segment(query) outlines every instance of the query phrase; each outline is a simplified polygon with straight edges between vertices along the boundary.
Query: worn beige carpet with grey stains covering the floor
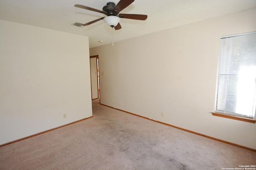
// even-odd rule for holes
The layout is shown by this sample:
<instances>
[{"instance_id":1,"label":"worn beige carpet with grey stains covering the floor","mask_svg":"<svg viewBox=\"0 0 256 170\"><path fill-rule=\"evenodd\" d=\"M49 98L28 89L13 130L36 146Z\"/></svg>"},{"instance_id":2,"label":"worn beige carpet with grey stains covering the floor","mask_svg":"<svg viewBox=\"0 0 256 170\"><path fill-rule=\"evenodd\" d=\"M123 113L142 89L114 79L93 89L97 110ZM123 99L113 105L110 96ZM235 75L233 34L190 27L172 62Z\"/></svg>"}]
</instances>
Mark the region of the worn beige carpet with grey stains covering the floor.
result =
<instances>
[{"instance_id":1,"label":"worn beige carpet with grey stains covering the floor","mask_svg":"<svg viewBox=\"0 0 256 170\"><path fill-rule=\"evenodd\" d=\"M256 164L234 147L93 101L93 117L0 148L1 170L221 170Z\"/></svg>"}]
</instances>

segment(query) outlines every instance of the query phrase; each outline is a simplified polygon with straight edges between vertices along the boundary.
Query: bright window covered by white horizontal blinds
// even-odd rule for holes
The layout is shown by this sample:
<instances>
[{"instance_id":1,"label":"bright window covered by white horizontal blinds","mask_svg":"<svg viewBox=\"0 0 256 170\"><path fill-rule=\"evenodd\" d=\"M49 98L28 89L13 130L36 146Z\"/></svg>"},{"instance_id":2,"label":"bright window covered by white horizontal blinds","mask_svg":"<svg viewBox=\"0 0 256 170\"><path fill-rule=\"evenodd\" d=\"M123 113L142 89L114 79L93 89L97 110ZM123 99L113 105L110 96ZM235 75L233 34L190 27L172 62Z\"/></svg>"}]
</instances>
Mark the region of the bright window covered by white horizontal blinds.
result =
<instances>
[{"instance_id":1,"label":"bright window covered by white horizontal blinds","mask_svg":"<svg viewBox=\"0 0 256 170\"><path fill-rule=\"evenodd\" d=\"M254 118L256 32L220 37L215 111Z\"/></svg>"}]
</instances>

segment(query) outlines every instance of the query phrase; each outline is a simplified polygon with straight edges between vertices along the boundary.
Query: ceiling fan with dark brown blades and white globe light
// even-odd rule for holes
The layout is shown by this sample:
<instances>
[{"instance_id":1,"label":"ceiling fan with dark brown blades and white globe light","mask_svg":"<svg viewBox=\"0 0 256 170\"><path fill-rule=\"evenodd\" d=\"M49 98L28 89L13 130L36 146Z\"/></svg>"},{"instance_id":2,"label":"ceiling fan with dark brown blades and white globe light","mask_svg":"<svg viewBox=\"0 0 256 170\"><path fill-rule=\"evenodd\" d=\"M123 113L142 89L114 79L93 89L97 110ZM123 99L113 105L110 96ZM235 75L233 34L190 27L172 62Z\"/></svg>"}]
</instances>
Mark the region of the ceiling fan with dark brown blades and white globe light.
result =
<instances>
[{"instance_id":1,"label":"ceiling fan with dark brown blades and white globe light","mask_svg":"<svg viewBox=\"0 0 256 170\"><path fill-rule=\"evenodd\" d=\"M147 15L140 14L119 14L119 12L132 4L132 2L134 2L134 0L120 0L118 4L115 4L114 2L108 2L107 5L102 8L102 11L79 4L76 4L75 7L91 10L94 12L100 12L106 15L106 17L98 18L97 20L90 21L83 25L90 25L94 22L104 20L110 27L114 27L116 30L118 30L122 28L119 23L120 18L127 18L132 20L146 20L148 18Z\"/></svg>"}]
</instances>

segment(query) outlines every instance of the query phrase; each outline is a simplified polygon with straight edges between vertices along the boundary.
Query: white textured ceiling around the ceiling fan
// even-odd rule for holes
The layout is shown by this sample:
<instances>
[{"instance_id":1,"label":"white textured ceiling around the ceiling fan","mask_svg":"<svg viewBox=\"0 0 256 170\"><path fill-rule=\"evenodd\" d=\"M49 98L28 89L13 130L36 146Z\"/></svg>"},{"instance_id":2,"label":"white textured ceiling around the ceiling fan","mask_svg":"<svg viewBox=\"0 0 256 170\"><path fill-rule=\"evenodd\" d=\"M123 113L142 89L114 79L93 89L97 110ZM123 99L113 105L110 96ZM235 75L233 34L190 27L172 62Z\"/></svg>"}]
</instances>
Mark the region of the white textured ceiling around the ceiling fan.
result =
<instances>
[{"instance_id":1,"label":"white textured ceiling around the ceiling fan","mask_svg":"<svg viewBox=\"0 0 256 170\"><path fill-rule=\"evenodd\" d=\"M104 14L74 7L81 4L102 10L107 2L119 0L0 0L0 20L24 23L89 37L90 48L148 33L256 8L256 0L135 0L123 14L145 14L145 21L121 18L115 30L103 20L87 23ZM100 43L99 41L103 41Z\"/></svg>"}]
</instances>

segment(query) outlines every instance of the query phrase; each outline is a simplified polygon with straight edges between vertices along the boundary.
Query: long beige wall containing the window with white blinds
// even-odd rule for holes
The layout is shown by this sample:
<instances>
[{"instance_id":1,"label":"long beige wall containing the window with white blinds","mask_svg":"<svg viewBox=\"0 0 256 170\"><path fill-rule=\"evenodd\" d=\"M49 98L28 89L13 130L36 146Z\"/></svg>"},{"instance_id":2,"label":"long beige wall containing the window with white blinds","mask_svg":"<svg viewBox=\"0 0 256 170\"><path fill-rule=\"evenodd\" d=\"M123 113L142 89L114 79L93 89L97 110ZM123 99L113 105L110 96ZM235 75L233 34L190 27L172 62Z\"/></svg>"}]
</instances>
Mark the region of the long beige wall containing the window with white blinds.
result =
<instances>
[{"instance_id":1,"label":"long beige wall containing the window with white blinds","mask_svg":"<svg viewBox=\"0 0 256 170\"><path fill-rule=\"evenodd\" d=\"M90 49L99 55L101 103L256 149L256 124L211 114L220 36L256 31L255 16L252 9Z\"/></svg>"}]
</instances>

